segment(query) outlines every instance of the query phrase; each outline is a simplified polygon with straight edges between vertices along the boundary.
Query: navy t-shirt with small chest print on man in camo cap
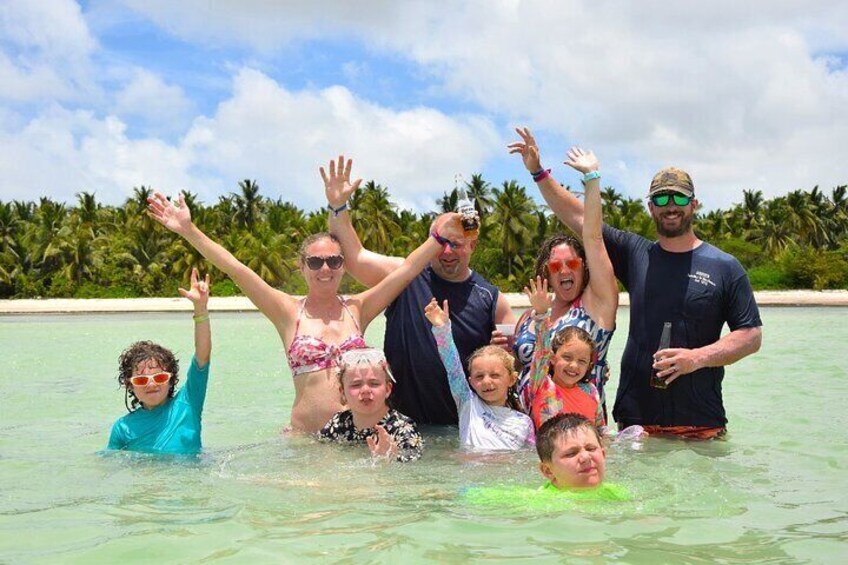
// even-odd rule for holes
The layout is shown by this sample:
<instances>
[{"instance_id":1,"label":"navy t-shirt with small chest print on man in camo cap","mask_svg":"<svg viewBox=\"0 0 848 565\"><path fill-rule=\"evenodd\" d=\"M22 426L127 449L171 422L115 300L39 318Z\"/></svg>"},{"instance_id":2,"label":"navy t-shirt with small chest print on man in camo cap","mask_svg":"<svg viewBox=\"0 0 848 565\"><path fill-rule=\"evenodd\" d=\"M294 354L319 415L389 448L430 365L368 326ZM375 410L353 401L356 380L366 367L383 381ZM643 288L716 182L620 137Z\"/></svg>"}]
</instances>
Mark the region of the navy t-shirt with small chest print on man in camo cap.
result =
<instances>
[{"instance_id":1,"label":"navy t-shirt with small chest print on man in camo cap","mask_svg":"<svg viewBox=\"0 0 848 565\"><path fill-rule=\"evenodd\" d=\"M624 426L725 426L723 367L683 375L667 389L651 387L649 379L664 322L672 323L671 347L685 348L715 343L725 322L731 331L762 325L745 269L706 242L672 253L605 225L604 243L616 277L630 293L630 329L613 418Z\"/></svg>"}]
</instances>

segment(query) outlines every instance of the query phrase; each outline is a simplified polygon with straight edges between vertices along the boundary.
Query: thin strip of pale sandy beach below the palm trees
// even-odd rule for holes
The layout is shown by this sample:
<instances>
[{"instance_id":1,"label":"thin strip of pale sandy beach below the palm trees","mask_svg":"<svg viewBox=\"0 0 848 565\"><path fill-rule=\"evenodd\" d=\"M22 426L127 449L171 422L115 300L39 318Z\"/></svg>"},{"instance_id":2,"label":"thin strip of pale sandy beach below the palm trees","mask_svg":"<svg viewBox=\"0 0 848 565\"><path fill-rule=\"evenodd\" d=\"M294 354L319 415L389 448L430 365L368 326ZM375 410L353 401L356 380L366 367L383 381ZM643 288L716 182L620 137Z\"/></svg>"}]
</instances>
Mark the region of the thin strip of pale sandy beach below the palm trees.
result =
<instances>
[{"instance_id":1,"label":"thin strip of pale sandy beach below the palm trees","mask_svg":"<svg viewBox=\"0 0 848 565\"><path fill-rule=\"evenodd\" d=\"M848 290L764 290L754 293L760 306L848 306ZM506 293L513 308L527 308L527 298L520 293ZM619 297L628 306L627 293ZM181 297L173 298L48 298L0 300L0 315L12 314L76 314L99 312L182 312L191 304ZM209 299L213 312L250 312L256 307L243 296Z\"/></svg>"}]
</instances>

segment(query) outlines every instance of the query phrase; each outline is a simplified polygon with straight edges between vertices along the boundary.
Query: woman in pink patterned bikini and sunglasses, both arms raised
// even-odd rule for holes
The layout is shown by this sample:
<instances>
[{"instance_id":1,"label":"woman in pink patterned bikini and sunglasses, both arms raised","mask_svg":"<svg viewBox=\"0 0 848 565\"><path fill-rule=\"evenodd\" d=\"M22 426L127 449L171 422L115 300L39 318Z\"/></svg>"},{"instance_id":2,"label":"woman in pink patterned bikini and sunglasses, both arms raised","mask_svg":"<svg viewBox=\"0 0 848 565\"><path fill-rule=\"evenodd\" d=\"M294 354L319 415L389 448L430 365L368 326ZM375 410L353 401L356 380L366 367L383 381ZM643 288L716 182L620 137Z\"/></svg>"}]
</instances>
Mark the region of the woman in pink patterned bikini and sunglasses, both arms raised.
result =
<instances>
[{"instance_id":1,"label":"woman in pink patterned bikini and sunglasses, both arms raised","mask_svg":"<svg viewBox=\"0 0 848 565\"><path fill-rule=\"evenodd\" d=\"M342 175L349 183L349 163L344 171L339 167ZM229 275L277 328L294 379L292 430L304 433L318 432L343 410L336 370L341 353L365 347L363 335L371 320L441 252L443 245L463 240L459 214L443 214L433 223L432 237L410 253L397 270L380 284L345 298L338 294L345 272L341 246L330 234L312 235L300 249L300 269L308 291L305 298L296 298L271 287L200 231L191 221L182 193L179 204L174 205L157 192L148 199L148 210Z\"/></svg>"}]
</instances>

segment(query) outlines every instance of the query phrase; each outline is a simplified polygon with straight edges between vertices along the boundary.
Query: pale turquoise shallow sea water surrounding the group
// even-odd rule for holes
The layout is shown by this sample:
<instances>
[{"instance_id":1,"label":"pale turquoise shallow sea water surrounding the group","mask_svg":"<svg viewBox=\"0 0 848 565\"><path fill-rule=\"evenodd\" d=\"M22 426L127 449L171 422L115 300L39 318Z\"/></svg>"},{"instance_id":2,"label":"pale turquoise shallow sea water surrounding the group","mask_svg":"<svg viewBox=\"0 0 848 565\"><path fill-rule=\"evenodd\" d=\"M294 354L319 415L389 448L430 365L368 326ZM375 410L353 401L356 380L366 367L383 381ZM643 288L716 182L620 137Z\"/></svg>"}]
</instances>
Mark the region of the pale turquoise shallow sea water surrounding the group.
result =
<instances>
[{"instance_id":1,"label":"pale turquoise shallow sea water surrounding the group","mask_svg":"<svg viewBox=\"0 0 848 565\"><path fill-rule=\"evenodd\" d=\"M409 465L281 437L291 379L256 314L214 315L203 457L99 456L125 412L119 353L154 339L186 367L190 316L0 317L0 562L841 563L846 314L765 308L763 349L725 378L727 441L613 445L608 476L633 500L542 510L466 500L542 479L530 452L459 453L455 429L425 429Z\"/></svg>"}]
</instances>

